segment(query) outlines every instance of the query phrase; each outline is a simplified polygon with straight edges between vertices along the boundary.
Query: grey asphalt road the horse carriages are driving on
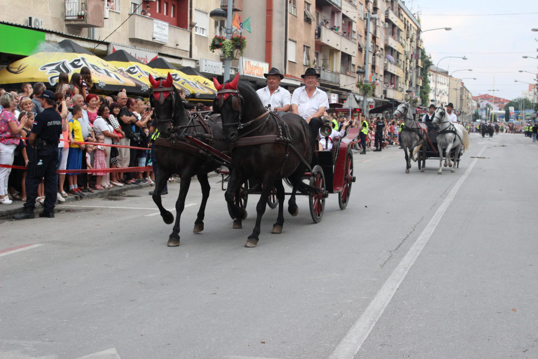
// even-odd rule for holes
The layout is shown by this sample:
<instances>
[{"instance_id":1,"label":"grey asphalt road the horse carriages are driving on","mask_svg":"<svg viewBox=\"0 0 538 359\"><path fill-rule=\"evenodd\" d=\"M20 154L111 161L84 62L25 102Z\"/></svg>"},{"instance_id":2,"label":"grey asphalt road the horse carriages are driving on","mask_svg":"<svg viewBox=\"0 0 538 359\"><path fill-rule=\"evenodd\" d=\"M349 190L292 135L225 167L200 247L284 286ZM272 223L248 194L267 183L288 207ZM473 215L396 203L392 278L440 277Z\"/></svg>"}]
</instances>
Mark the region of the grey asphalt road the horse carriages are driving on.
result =
<instances>
[{"instance_id":1,"label":"grey asphalt road the horse carriages are driving on","mask_svg":"<svg viewBox=\"0 0 538 359\"><path fill-rule=\"evenodd\" d=\"M355 154L347 209L330 195L314 224L301 197L281 235L267 209L251 249L258 196L234 230L218 178L200 234L193 181L177 248L147 188L4 217L0 357L536 358L537 151L471 134L442 175L405 174L395 147Z\"/></svg>"}]
</instances>

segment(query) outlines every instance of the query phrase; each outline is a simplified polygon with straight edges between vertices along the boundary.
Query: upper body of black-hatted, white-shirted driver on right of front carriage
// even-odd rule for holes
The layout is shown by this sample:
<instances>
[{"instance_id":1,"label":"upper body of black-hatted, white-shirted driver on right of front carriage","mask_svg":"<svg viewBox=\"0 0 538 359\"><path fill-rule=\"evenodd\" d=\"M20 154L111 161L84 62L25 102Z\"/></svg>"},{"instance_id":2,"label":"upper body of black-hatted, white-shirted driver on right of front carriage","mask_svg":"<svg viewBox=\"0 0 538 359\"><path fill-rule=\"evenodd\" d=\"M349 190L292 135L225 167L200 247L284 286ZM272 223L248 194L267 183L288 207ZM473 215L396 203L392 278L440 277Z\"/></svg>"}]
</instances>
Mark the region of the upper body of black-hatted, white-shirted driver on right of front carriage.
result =
<instances>
[{"instance_id":1,"label":"upper body of black-hatted, white-shirted driver on right of front carriage","mask_svg":"<svg viewBox=\"0 0 538 359\"><path fill-rule=\"evenodd\" d=\"M292 112L310 123L310 119L321 117L325 109L329 108L329 98L326 93L316 87L320 74L316 73L315 69L307 68L301 78L303 78L305 86L293 91Z\"/></svg>"}]
</instances>

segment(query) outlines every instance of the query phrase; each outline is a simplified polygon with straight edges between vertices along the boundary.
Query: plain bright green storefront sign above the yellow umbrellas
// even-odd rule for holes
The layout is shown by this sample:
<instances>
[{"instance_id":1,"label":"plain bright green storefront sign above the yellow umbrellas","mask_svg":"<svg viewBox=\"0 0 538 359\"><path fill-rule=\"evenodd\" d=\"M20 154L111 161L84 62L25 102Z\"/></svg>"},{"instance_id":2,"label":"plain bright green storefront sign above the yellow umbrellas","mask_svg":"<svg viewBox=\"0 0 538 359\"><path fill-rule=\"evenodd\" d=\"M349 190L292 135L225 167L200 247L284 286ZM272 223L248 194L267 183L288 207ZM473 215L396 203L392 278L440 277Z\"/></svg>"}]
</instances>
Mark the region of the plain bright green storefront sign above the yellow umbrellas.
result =
<instances>
[{"instance_id":1,"label":"plain bright green storefront sign above the yellow umbrellas","mask_svg":"<svg viewBox=\"0 0 538 359\"><path fill-rule=\"evenodd\" d=\"M0 52L28 56L45 42L45 33L24 27L0 24Z\"/></svg>"}]
</instances>

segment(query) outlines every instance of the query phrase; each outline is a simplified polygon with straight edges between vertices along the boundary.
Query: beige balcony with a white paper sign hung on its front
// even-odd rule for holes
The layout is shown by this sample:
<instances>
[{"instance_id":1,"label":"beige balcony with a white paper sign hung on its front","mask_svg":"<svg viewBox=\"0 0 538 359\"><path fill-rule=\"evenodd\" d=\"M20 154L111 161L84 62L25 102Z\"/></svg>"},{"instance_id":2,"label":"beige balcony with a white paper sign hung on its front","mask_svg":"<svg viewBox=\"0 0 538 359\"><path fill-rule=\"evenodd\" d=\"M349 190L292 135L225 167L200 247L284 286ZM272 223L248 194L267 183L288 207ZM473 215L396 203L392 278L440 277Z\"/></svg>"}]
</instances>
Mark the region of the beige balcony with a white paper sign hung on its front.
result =
<instances>
[{"instance_id":1,"label":"beige balcony with a white paper sign hung on its front","mask_svg":"<svg viewBox=\"0 0 538 359\"><path fill-rule=\"evenodd\" d=\"M160 41L155 42L153 39L153 19L147 16L137 14L131 16L129 19L129 38L189 51L190 32L188 30L168 25L168 43L162 44Z\"/></svg>"}]
</instances>

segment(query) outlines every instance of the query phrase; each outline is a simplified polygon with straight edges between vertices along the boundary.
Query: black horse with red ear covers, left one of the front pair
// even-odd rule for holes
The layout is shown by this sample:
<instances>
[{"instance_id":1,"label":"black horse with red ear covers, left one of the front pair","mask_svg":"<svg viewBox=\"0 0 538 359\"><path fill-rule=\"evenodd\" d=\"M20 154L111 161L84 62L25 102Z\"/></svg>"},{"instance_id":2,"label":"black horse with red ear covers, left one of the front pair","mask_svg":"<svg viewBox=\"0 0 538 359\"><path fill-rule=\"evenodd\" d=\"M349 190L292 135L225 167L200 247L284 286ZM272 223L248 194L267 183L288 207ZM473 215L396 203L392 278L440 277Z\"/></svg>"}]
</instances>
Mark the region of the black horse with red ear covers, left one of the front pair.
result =
<instances>
[{"instance_id":1,"label":"black horse with red ear covers, left one of the front pair","mask_svg":"<svg viewBox=\"0 0 538 359\"><path fill-rule=\"evenodd\" d=\"M153 79L151 75L149 79L152 86L150 103L154 108L159 130L159 138L155 140L155 158L159 170L155 179L153 202L159 207L162 220L166 224L174 221L174 215L162 207L161 191L172 174L178 174L181 179L179 196L175 203L178 214L172 234L168 238L168 247L176 247L180 242L179 222L185 208L190 179L196 175L202 187L202 202L193 229L194 233L199 233L203 230L203 219L210 190L207 174L221 165L211 157L210 153L201 150L185 136L199 137L203 142L221 152L228 150L230 144L223 140L221 123L210 119L206 121L199 114L194 116L188 114L183 107L178 90L173 86L170 74L166 80Z\"/></svg>"}]
</instances>

